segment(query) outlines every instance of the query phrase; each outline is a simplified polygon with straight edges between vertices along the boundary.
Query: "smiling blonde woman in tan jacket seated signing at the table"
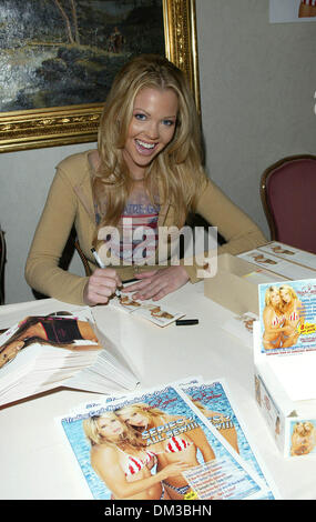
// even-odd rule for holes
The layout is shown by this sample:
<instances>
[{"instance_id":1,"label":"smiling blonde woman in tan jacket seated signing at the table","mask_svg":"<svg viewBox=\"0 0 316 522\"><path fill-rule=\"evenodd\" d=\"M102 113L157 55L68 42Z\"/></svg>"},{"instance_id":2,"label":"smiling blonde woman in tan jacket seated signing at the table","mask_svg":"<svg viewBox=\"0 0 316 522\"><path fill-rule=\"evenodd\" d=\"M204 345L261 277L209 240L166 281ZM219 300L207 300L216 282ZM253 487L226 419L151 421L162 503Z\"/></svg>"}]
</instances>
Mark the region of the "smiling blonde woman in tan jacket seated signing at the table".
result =
<instances>
[{"instance_id":1,"label":"smiling blonde woman in tan jacket seated signing at the table","mask_svg":"<svg viewBox=\"0 0 316 522\"><path fill-rule=\"evenodd\" d=\"M236 254L266 242L203 170L200 118L185 74L163 57L139 56L113 82L98 150L58 165L27 260L27 281L45 295L94 305L136 278L129 288L134 298L159 300L197 280L194 262L156 263L162 231L181 229L188 212L218 228L226 241L221 251ZM73 225L90 277L59 267ZM140 229L147 233L137 234ZM108 268L95 265L94 247Z\"/></svg>"}]
</instances>

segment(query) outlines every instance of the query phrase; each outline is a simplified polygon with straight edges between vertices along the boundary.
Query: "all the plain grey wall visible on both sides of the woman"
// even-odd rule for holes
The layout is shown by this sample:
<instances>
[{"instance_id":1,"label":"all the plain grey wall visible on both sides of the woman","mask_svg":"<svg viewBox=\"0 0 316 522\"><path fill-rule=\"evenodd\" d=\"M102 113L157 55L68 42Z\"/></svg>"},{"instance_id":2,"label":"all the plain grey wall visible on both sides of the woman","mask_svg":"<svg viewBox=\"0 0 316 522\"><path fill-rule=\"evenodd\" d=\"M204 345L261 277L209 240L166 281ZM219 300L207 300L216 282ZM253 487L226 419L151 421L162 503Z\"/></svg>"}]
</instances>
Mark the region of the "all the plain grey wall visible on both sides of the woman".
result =
<instances>
[{"instance_id":1,"label":"all the plain grey wall visible on both sides of the woman","mask_svg":"<svg viewBox=\"0 0 316 522\"><path fill-rule=\"evenodd\" d=\"M316 153L316 23L268 22L268 0L196 0L206 165L212 179L267 234L263 170ZM79 144L0 154L0 225L6 231L6 302L33 299L24 262L55 164ZM74 257L71 269L83 273Z\"/></svg>"}]
</instances>

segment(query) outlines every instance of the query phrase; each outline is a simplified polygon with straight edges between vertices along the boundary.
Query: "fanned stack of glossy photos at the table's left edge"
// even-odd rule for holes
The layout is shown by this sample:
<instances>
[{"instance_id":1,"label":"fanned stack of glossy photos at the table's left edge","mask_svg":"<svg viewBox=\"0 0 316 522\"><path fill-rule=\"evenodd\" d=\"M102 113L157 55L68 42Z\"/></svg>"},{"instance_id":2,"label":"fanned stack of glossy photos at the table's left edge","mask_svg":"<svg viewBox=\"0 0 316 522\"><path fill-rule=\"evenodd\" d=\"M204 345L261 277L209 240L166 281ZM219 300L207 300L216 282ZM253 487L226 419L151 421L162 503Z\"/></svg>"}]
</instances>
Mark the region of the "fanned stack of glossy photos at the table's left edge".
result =
<instances>
[{"instance_id":1,"label":"fanned stack of glossy photos at the table's left edge","mask_svg":"<svg viewBox=\"0 0 316 522\"><path fill-rule=\"evenodd\" d=\"M59 387L134 390L139 380L96 332L89 308L28 317L7 330L0 337L0 405Z\"/></svg>"}]
</instances>

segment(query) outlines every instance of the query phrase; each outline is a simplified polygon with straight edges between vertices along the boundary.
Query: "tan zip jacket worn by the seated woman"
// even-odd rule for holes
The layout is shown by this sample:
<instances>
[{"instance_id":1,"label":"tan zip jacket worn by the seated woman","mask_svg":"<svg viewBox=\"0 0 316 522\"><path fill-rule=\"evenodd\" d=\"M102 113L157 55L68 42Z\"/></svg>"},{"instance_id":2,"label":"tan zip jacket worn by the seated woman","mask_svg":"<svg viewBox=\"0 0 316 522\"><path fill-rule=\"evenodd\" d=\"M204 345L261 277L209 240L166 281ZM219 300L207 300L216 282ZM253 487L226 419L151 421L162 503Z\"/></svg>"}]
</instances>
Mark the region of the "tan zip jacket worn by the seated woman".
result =
<instances>
[{"instance_id":1,"label":"tan zip jacket worn by the seated woman","mask_svg":"<svg viewBox=\"0 0 316 522\"><path fill-rule=\"evenodd\" d=\"M80 247L92 270L95 261L91 253L95 235L95 213L91 190L89 152L73 154L61 161L50 188L26 265L26 279L34 290L74 304L83 303L86 277L75 275L59 268L60 257L74 224ZM266 242L259 229L223 192L207 181L200 191L196 212L227 241L218 253L233 254L253 249ZM163 204L159 227L174 225L172 205ZM122 281L152 267L118 267ZM196 267L185 267L192 282L197 280Z\"/></svg>"}]
</instances>

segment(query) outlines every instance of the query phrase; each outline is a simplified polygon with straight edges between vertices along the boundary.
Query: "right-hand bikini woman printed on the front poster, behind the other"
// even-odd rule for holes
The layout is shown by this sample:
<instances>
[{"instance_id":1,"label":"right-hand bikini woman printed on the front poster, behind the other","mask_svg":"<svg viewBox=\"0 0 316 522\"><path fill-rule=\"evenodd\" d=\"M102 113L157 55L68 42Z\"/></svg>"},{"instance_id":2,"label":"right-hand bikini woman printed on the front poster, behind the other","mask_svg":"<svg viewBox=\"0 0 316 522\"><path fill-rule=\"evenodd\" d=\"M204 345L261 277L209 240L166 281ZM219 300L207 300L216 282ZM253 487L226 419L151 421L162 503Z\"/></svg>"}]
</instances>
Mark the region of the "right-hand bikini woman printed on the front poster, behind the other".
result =
<instances>
[{"instance_id":1,"label":"right-hand bikini woman printed on the front poster, behind the other","mask_svg":"<svg viewBox=\"0 0 316 522\"><path fill-rule=\"evenodd\" d=\"M200 465L197 450L200 450L203 461L208 462L215 459L214 451L201 428L175 431L179 434L172 435L172 430L181 425L188 425L190 420L180 415L170 415L157 408L150 408L144 403L130 404L116 411L116 414L131 426L135 433L142 434L144 440L152 436L152 441L157 436L159 442L152 445L157 458L157 471L169 469L171 464L184 464L187 468ZM157 429L157 430L155 430ZM191 488L183 474L166 474L163 484L171 499L183 500Z\"/></svg>"}]
</instances>

